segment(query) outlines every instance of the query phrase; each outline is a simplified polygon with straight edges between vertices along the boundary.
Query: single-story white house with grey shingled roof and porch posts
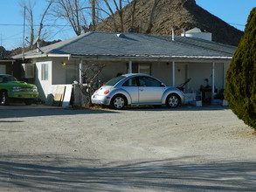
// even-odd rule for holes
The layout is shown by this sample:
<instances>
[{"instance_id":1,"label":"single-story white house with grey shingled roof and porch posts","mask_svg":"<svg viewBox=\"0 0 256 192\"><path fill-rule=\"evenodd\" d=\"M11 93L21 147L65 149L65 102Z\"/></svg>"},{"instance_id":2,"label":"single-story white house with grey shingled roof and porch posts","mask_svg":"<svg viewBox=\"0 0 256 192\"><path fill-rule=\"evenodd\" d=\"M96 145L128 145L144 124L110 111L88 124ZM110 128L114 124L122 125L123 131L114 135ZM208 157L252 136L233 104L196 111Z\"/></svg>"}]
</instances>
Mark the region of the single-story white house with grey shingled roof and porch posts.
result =
<instances>
[{"instance_id":1,"label":"single-story white house with grey shingled roof and porch posts","mask_svg":"<svg viewBox=\"0 0 256 192\"><path fill-rule=\"evenodd\" d=\"M78 37L25 52L27 68L34 68L34 83L45 100L52 85L82 83L88 63L104 64L98 79L106 82L118 73L148 73L168 86L187 79L184 93L204 92L204 99L225 87L225 72L236 47L203 38L138 33L86 32ZM26 68L26 67L25 67Z\"/></svg>"}]
</instances>

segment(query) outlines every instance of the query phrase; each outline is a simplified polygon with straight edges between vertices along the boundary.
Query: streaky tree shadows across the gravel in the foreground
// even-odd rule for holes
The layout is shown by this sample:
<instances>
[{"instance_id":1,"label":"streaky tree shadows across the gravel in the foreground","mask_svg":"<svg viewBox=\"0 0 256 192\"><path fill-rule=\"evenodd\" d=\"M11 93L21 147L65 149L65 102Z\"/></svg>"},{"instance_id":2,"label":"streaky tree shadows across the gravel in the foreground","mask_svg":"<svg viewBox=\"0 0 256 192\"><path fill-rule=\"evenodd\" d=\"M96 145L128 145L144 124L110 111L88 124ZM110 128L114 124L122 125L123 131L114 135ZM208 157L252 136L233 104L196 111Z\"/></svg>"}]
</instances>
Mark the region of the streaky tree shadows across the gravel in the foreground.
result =
<instances>
[{"instance_id":1,"label":"streaky tree shadows across the gravel in the foreground","mask_svg":"<svg viewBox=\"0 0 256 192\"><path fill-rule=\"evenodd\" d=\"M0 190L255 191L256 162L111 162L55 154L1 155Z\"/></svg>"}]
</instances>

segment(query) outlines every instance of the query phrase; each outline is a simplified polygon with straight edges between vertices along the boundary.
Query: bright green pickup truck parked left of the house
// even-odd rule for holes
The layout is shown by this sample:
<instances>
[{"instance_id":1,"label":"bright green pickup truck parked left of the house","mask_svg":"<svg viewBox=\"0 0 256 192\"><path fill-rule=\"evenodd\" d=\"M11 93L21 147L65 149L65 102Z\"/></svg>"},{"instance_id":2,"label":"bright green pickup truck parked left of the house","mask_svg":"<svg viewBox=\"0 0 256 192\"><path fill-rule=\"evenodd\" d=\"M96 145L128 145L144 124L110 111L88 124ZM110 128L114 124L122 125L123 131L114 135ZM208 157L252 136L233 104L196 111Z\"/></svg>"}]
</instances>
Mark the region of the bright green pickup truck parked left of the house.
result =
<instances>
[{"instance_id":1,"label":"bright green pickup truck parked left of the house","mask_svg":"<svg viewBox=\"0 0 256 192\"><path fill-rule=\"evenodd\" d=\"M0 105L9 105L10 99L19 99L31 105L35 98L38 98L37 86L17 81L11 75L0 74Z\"/></svg>"}]
</instances>

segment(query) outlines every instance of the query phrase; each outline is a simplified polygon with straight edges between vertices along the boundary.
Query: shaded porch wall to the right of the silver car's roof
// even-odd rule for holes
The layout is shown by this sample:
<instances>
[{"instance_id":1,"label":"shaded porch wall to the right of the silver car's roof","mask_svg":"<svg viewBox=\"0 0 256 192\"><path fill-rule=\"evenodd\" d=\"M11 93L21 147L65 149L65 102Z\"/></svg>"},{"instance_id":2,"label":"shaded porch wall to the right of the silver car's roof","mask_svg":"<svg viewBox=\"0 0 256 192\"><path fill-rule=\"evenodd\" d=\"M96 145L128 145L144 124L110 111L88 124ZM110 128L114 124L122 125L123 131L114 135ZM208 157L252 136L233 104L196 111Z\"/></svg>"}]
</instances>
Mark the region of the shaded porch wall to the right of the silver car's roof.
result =
<instances>
[{"instance_id":1,"label":"shaded porch wall to the right of the silver car's roof","mask_svg":"<svg viewBox=\"0 0 256 192\"><path fill-rule=\"evenodd\" d=\"M215 64L215 87L220 91L225 88L225 73L228 68L228 63ZM179 86L190 78L190 82L185 86L185 92L196 93L200 86L206 86L204 79L208 79L209 86L211 82L211 66L212 63L175 63L175 86ZM172 64L168 63L153 63L152 75L161 79L166 85L172 86Z\"/></svg>"}]
</instances>

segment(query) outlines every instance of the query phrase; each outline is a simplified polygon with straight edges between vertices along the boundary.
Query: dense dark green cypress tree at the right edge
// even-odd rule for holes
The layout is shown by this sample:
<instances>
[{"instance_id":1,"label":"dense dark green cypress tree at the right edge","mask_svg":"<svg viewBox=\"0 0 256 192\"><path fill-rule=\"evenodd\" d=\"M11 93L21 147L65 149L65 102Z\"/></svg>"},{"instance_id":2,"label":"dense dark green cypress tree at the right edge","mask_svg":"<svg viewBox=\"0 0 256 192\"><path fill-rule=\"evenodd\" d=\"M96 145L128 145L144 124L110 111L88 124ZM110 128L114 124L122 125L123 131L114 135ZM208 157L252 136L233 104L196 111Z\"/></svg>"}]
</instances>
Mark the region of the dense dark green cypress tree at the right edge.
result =
<instances>
[{"instance_id":1,"label":"dense dark green cypress tree at the right edge","mask_svg":"<svg viewBox=\"0 0 256 192\"><path fill-rule=\"evenodd\" d=\"M226 74L225 99L232 112L256 131L256 8L251 11Z\"/></svg>"}]
</instances>

